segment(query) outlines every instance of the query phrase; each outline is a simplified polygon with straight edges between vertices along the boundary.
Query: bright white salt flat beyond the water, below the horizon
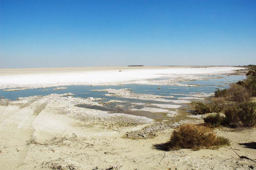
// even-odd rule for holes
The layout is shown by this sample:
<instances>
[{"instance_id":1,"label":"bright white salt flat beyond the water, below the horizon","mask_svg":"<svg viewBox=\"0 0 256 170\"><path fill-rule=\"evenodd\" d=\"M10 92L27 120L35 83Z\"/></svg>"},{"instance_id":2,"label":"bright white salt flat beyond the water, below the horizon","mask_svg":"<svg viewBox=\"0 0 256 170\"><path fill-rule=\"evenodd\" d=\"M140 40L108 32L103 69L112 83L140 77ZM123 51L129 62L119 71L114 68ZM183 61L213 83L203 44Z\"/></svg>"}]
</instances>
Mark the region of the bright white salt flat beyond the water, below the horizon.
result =
<instances>
[{"instance_id":1,"label":"bright white salt flat beyond the water, below the horizon","mask_svg":"<svg viewBox=\"0 0 256 170\"><path fill-rule=\"evenodd\" d=\"M0 69L0 89L64 85L118 85L127 83L180 85L178 81L204 79L199 74L233 73L240 67L74 67ZM122 72L119 72L122 70ZM168 80L149 79L168 77ZM191 85L190 85L191 86Z\"/></svg>"}]
</instances>

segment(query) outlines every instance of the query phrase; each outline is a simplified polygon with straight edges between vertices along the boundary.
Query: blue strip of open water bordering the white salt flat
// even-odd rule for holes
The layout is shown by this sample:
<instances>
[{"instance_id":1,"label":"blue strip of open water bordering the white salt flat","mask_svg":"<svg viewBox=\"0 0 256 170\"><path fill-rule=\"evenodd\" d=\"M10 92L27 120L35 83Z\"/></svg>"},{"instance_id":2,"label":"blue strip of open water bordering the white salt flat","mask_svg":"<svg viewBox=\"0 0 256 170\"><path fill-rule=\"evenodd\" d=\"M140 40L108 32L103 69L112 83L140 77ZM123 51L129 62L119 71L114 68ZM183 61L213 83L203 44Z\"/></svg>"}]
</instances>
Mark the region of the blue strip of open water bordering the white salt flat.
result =
<instances>
[{"instance_id":1,"label":"blue strip of open water bordering the white salt flat","mask_svg":"<svg viewBox=\"0 0 256 170\"><path fill-rule=\"evenodd\" d=\"M10 100L16 100L18 97L29 97L42 95L46 96L52 93L63 94L63 93L73 93L74 97L94 97L94 98L105 98L108 100L118 100L119 97L108 97L105 96L107 92L105 91L91 91L95 89L132 89L133 93L141 94L153 94L160 96L174 96L173 100L177 99L176 97L186 97L186 94L204 92L204 93L214 93L216 89L226 89L229 87L229 83L236 81L244 80L246 76L241 75L221 75L222 78L212 78L209 80L196 80L196 81L183 81L180 84L197 84L201 86L156 86L156 85L136 85L136 84L125 84L124 86L83 86L83 85L72 85L72 86L60 86L67 87L67 89L52 90L56 87L41 88L41 89L26 89L18 91L0 91L0 96ZM161 87L162 89L157 89ZM47 90L47 91L43 91ZM170 95L180 94L180 95ZM185 95L183 95L185 94ZM134 99L135 100L135 99Z\"/></svg>"}]
</instances>

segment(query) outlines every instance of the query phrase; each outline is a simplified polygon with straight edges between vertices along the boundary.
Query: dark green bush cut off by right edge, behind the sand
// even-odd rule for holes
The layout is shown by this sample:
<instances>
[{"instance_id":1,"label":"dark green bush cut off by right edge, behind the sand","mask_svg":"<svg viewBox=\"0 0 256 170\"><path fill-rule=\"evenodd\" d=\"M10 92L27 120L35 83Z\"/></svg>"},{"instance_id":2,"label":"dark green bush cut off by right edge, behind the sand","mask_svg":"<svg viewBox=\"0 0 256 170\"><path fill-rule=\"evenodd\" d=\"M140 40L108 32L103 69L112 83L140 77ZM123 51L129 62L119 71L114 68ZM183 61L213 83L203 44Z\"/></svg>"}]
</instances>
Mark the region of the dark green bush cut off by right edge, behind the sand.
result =
<instances>
[{"instance_id":1,"label":"dark green bush cut off by right edge, behind the sand","mask_svg":"<svg viewBox=\"0 0 256 170\"><path fill-rule=\"evenodd\" d=\"M245 102L239 104L238 117L246 127L254 127L256 125L256 103Z\"/></svg>"}]
</instances>

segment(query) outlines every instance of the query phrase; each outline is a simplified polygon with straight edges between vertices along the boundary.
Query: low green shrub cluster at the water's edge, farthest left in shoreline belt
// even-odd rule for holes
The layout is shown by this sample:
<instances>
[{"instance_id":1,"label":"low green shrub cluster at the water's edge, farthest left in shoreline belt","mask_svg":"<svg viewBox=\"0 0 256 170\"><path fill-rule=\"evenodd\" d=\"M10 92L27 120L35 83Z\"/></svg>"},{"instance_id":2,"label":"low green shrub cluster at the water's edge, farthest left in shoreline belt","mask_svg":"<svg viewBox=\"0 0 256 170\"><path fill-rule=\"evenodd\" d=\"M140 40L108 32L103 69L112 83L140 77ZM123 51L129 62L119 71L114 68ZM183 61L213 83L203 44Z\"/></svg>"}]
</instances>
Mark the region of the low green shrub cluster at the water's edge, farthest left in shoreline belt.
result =
<instances>
[{"instance_id":1,"label":"low green shrub cluster at the water's edge, farthest left in shoreline belt","mask_svg":"<svg viewBox=\"0 0 256 170\"><path fill-rule=\"evenodd\" d=\"M206 114L211 112L219 113L223 110L223 105L216 103L197 102L195 110L198 114Z\"/></svg>"}]
</instances>

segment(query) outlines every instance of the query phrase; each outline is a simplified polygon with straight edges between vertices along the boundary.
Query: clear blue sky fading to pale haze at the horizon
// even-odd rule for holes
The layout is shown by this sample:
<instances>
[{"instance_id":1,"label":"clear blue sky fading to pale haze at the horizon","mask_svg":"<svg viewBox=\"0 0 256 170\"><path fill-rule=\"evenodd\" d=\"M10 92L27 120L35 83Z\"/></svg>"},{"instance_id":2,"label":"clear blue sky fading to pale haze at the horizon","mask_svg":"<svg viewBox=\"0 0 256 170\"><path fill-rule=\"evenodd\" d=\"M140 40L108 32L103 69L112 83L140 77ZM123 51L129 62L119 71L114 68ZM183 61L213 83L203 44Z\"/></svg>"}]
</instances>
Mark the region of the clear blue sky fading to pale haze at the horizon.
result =
<instances>
[{"instance_id":1,"label":"clear blue sky fading to pale haze at the horizon","mask_svg":"<svg viewBox=\"0 0 256 170\"><path fill-rule=\"evenodd\" d=\"M256 64L256 0L0 0L0 68Z\"/></svg>"}]
</instances>

